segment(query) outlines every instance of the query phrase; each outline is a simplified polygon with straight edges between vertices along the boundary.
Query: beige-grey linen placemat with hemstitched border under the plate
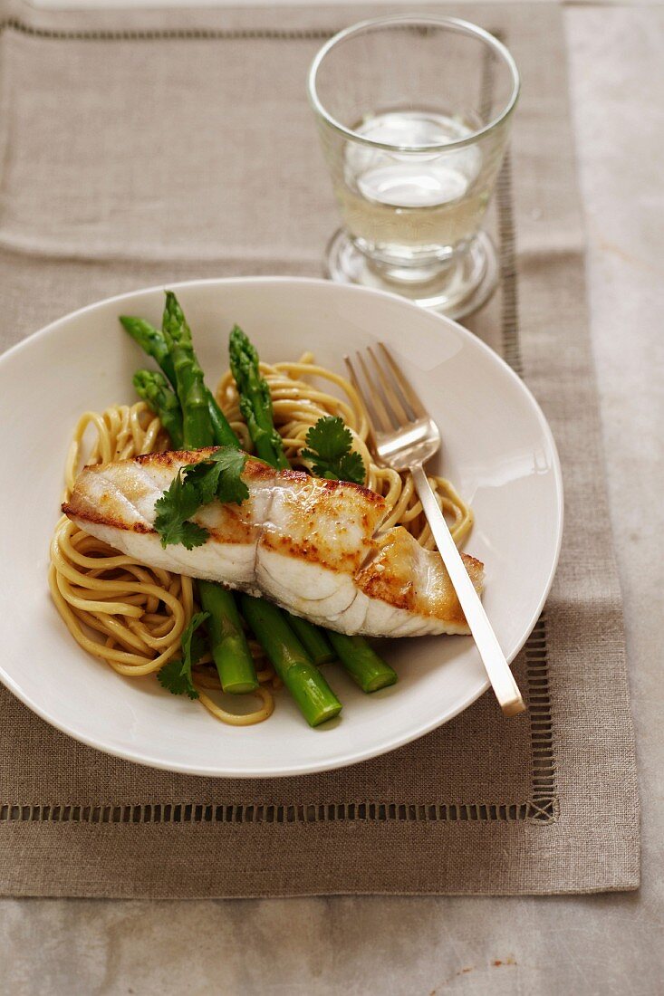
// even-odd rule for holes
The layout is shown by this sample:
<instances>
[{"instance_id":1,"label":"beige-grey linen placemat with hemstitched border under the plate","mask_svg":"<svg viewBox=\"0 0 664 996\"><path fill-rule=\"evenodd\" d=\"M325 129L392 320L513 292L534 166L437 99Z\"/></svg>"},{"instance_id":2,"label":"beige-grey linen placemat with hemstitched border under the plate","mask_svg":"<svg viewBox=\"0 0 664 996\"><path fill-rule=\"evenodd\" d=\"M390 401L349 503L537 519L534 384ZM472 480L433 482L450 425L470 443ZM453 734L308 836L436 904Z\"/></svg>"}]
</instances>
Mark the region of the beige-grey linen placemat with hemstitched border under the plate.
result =
<instances>
[{"instance_id":1,"label":"beige-grey linen placemat with hemstitched border under the plate","mask_svg":"<svg viewBox=\"0 0 664 996\"><path fill-rule=\"evenodd\" d=\"M141 286L320 275L338 222L305 71L331 33L374 12L55 14L5 3L0 345ZM469 325L524 375L565 478L557 577L515 663L529 711L506 721L485 695L352 768L215 780L96 752L1 688L3 893L637 886L633 734L560 15L539 4L468 4L463 15L506 42L523 81L495 205L501 288ZM66 389L66 369L54 382Z\"/></svg>"}]
</instances>

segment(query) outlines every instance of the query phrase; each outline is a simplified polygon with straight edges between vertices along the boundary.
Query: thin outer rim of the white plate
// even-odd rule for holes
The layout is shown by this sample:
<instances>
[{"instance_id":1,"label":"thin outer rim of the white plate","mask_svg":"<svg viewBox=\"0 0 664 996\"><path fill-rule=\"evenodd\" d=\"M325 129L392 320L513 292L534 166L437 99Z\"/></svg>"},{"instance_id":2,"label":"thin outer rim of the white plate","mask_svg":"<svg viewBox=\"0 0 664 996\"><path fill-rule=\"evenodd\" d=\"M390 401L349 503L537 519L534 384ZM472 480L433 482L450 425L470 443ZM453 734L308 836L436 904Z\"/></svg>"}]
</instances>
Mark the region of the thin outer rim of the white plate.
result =
<instances>
[{"instance_id":1,"label":"thin outer rim of the white plate","mask_svg":"<svg viewBox=\"0 0 664 996\"><path fill-rule=\"evenodd\" d=\"M352 284L334 284L332 281L323 280L313 277L288 277L288 276L241 276L241 277L210 277L203 279L193 279L193 280L183 280L183 281L170 281L165 284L154 284L150 287L137 288L133 291L128 291L124 294L113 295L109 298L103 298L99 301L95 301L92 304L84 305L82 308L78 308L73 312L69 312L67 315L63 315L61 318L50 322L48 325L44 326L42 329L37 330L30 336L27 336L20 343L11 347L5 353L0 356L0 367L4 366L10 359L20 353L22 350L29 348L29 346L36 340L46 338L47 336L52 336L57 334L58 330L71 322L75 318L79 318L88 313L93 313L98 309L102 309L108 305L114 304L116 302L126 301L130 298L138 297L139 295L151 294L163 291L166 287L174 291L180 291L187 288L196 288L201 286L209 285L236 285L236 284L298 284L298 285L318 285L329 287L343 288L344 291L348 293L356 293L360 295L378 295L381 298L387 298L399 302L401 305L407 305L419 310L419 306L412 304L411 302L405 300L397 294L392 294L387 291L374 290L365 287L358 287ZM430 313L431 314L431 313ZM465 338L468 342L473 344L474 348L480 349L482 352L486 353L491 357L491 360L495 362L499 368L502 369L503 373L506 373L509 378L517 385L528 398L529 403L532 406L534 414L536 415L540 429L542 430L543 436L549 447L549 452L551 455L551 470L553 472L553 481L555 484L556 492L556 526L557 535L555 542L554 556L551 562L551 568L546 579L546 583L542 590L542 595L537 603L536 608L531 613L531 617L524 626L524 630L521 638L517 641L515 647L512 649L508 656L508 663L511 663L516 654L524 646L528 636L532 632L535 623L541 615L542 609L548 598L551 586L553 584L553 579L555 577L555 572L558 565L558 560L560 557L560 549L562 545L562 534L563 534L563 524L564 524L564 496L563 496L563 484L562 484L562 471L560 467L560 459L557 451L557 446L555 444L555 439L553 433L548 424L546 416L541 409L537 399L533 395L527 384L515 373L511 367L505 361L498 356L490 346L488 346L483 340L475 336L464 326L452 319L448 319L445 316L434 315L434 318L441 319L443 324L451 324L456 330L461 334L462 338ZM162 760L160 757L149 757L145 753L139 753L131 750L130 748L122 749L116 746L108 746L106 744L101 744L99 741L95 740L92 736L87 736L77 730L73 730L67 723L62 722L57 716L51 715L48 709L43 708L37 701L33 699L31 695L26 694L16 681L7 674L0 661L0 681L7 687L12 694L14 694L24 705L26 705L32 712L40 716L51 726L65 733L67 736L72 737L80 743L86 744L88 747L92 747L96 750L101 750L106 754L113 757L122 758L123 760L132 761L136 764L145 765L150 768L156 768L162 771L177 772L186 775L199 775L208 778L286 778L295 775L307 775L316 774L321 771L333 771L335 769L349 767L350 765L359 764L362 761L368 761L372 758L378 757L381 754L389 753L390 751L396 750L414 740L419 739L432 730L437 729L440 726L445 725L455 716L458 716L461 712L464 712L469 706L473 705L485 692L490 688L490 681L487 680L483 685L480 686L478 691L472 692L465 699L463 699L458 705L450 708L445 713L445 717L442 719L433 719L431 721L426 721L422 725L417 726L408 731L406 734L398 734L392 740L388 742L381 742L379 746L374 748L362 749L359 753L349 752L347 754L336 757L333 761L325 761L323 763L313 761L309 764L294 764L278 772L269 771L265 772L262 769L246 769L238 767L219 767L210 766L208 768L201 767L195 764L174 764L173 762L167 762ZM509 720L505 720L508 722Z\"/></svg>"}]
</instances>

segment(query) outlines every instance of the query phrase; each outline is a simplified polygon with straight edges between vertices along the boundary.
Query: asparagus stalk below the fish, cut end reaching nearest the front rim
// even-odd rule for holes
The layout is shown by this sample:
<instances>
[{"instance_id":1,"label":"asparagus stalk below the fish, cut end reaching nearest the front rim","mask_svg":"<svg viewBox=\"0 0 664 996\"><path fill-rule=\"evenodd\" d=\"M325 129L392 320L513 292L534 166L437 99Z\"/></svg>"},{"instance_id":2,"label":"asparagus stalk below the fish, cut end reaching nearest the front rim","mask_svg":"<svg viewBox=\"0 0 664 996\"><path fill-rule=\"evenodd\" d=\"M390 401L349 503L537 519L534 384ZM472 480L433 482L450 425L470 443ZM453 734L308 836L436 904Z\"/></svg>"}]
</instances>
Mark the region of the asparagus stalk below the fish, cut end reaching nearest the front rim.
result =
<instances>
[{"instance_id":1,"label":"asparagus stalk below the fish, cut end reaching nearest the front rim","mask_svg":"<svg viewBox=\"0 0 664 996\"><path fill-rule=\"evenodd\" d=\"M310 726L338 716L341 702L311 662L280 609L248 595L241 598L242 615L272 661Z\"/></svg>"}]
</instances>

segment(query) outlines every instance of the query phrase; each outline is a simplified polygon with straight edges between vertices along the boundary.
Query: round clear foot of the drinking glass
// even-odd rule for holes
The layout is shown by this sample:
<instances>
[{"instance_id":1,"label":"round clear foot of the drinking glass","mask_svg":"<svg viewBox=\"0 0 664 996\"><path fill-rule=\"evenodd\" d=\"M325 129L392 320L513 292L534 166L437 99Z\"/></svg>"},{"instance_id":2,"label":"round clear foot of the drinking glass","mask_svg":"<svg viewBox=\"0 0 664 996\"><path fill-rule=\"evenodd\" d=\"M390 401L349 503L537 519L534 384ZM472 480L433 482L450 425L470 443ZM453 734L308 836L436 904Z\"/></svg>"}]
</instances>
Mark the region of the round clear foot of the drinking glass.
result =
<instances>
[{"instance_id":1,"label":"round clear foot of the drinking glass","mask_svg":"<svg viewBox=\"0 0 664 996\"><path fill-rule=\"evenodd\" d=\"M331 280L391 291L453 319L478 311L498 287L498 255L487 232L480 232L464 252L427 280L391 278L384 268L360 252L343 228L330 239L325 263Z\"/></svg>"}]
</instances>

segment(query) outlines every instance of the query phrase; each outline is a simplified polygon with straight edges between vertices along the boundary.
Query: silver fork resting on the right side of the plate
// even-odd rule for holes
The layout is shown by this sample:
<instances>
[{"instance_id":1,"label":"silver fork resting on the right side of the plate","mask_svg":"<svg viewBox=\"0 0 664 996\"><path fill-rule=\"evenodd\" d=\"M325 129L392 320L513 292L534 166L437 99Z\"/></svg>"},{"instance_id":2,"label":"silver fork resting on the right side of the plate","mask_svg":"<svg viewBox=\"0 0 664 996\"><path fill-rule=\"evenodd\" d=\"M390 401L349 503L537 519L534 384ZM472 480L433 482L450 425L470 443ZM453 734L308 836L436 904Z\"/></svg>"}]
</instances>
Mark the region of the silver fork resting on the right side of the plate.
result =
<instances>
[{"instance_id":1,"label":"silver fork resting on the right side of the plate","mask_svg":"<svg viewBox=\"0 0 664 996\"><path fill-rule=\"evenodd\" d=\"M344 357L351 380L364 401L370 423L373 423L372 442L375 452L387 466L399 471L410 470L413 475L413 483L427 521L480 650L500 707L505 715L516 715L525 709L521 693L424 470L423 464L441 448L441 433L387 348L383 343L379 343L378 347L382 362L377 359L371 347L366 351L367 362L361 353L356 354L356 362L366 385L364 388L352 361L349 357Z\"/></svg>"}]
</instances>

